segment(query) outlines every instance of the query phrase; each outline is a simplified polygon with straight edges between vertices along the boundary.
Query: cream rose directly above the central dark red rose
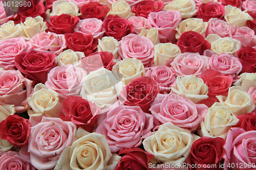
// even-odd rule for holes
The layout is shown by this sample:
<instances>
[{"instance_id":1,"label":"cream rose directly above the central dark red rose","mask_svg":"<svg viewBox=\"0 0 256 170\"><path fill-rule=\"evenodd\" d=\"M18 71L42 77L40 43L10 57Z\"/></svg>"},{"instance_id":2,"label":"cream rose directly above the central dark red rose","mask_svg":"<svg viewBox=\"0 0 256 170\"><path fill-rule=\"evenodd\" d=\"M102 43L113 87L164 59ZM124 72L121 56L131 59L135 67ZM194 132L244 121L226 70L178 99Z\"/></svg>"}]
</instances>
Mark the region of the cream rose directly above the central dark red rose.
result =
<instances>
[{"instance_id":1,"label":"cream rose directly above the central dark red rose","mask_svg":"<svg viewBox=\"0 0 256 170\"><path fill-rule=\"evenodd\" d=\"M125 85L128 85L137 77L145 76L145 68L142 62L136 58L126 58L117 62L113 66L112 72L118 81L123 79Z\"/></svg>"}]
</instances>

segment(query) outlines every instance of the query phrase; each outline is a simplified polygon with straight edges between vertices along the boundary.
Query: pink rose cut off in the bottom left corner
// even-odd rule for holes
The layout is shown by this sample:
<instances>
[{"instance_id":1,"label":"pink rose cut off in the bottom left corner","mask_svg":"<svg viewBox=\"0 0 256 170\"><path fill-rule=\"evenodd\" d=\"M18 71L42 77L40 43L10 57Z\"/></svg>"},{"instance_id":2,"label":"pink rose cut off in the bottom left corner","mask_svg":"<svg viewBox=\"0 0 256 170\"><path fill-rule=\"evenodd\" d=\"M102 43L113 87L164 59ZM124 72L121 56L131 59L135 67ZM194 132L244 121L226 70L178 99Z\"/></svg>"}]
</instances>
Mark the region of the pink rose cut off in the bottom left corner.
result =
<instances>
[{"instance_id":1,"label":"pink rose cut off in the bottom left corner","mask_svg":"<svg viewBox=\"0 0 256 170\"><path fill-rule=\"evenodd\" d=\"M35 167L28 163L22 156L18 154L18 152L9 151L1 155L0 157L0 166L3 169L27 169L27 170L35 170Z\"/></svg>"}]
</instances>

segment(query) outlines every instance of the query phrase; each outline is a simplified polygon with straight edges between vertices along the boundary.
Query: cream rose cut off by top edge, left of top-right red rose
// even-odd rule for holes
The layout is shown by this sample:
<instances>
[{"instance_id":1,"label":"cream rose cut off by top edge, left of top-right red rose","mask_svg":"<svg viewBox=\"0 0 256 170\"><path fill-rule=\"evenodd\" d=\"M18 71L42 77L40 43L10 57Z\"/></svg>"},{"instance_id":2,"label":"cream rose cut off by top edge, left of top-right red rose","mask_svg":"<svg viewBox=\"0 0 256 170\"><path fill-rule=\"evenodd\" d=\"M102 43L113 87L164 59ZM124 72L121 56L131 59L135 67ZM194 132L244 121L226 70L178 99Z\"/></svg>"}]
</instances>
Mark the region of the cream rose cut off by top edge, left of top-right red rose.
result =
<instances>
[{"instance_id":1,"label":"cream rose cut off by top edge, left of top-right red rose","mask_svg":"<svg viewBox=\"0 0 256 170\"><path fill-rule=\"evenodd\" d=\"M197 13L194 0L174 0L163 7L163 10L179 11L182 18L191 18Z\"/></svg>"}]
</instances>

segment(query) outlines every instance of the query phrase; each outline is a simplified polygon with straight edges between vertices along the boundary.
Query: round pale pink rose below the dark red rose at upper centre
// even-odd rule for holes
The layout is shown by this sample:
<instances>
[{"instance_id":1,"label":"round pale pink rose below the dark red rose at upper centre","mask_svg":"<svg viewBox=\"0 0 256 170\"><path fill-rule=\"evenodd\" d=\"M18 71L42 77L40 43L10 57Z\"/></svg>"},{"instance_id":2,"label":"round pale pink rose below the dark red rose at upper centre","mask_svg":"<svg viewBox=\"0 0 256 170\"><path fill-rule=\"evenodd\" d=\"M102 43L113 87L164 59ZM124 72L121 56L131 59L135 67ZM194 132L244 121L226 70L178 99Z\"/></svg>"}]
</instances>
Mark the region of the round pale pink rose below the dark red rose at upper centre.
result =
<instances>
[{"instance_id":1,"label":"round pale pink rose below the dark red rose at upper centre","mask_svg":"<svg viewBox=\"0 0 256 170\"><path fill-rule=\"evenodd\" d=\"M137 58L144 67L154 65L154 44L150 39L137 34L129 34L123 37L119 44L119 60Z\"/></svg>"}]
</instances>

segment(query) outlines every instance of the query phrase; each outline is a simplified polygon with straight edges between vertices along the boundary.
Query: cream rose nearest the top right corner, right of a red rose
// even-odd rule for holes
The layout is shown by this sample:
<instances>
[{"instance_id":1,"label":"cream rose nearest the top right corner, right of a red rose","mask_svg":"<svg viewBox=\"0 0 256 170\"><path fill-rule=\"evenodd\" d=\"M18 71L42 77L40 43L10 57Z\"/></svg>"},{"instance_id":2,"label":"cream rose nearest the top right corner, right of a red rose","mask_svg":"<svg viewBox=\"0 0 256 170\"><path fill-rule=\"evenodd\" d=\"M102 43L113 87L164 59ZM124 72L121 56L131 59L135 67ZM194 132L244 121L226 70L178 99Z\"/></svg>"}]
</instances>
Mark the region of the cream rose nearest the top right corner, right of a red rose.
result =
<instances>
[{"instance_id":1,"label":"cream rose nearest the top right corner, right of a red rose","mask_svg":"<svg viewBox=\"0 0 256 170\"><path fill-rule=\"evenodd\" d=\"M242 11L240 8L233 7L231 5L225 6L224 18L228 23L234 23L239 28L246 26L247 20L253 20L253 18L246 12Z\"/></svg>"}]
</instances>

